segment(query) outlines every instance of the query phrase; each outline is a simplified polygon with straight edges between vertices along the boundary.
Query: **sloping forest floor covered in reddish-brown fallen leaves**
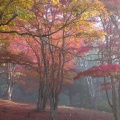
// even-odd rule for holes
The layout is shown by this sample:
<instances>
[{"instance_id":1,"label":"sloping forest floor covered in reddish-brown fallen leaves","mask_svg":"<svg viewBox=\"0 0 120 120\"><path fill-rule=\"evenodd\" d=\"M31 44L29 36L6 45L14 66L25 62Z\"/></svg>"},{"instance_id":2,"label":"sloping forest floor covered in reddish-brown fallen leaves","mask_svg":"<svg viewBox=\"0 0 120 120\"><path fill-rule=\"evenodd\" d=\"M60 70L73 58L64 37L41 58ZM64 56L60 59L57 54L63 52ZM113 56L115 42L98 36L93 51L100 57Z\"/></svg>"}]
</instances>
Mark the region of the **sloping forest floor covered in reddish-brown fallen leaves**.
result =
<instances>
[{"instance_id":1,"label":"sloping forest floor covered in reddish-brown fallen leaves","mask_svg":"<svg viewBox=\"0 0 120 120\"><path fill-rule=\"evenodd\" d=\"M0 99L0 120L49 120L49 107L46 112L35 112L36 105L17 103ZM111 113L88 109L60 106L58 120L114 120Z\"/></svg>"}]
</instances>

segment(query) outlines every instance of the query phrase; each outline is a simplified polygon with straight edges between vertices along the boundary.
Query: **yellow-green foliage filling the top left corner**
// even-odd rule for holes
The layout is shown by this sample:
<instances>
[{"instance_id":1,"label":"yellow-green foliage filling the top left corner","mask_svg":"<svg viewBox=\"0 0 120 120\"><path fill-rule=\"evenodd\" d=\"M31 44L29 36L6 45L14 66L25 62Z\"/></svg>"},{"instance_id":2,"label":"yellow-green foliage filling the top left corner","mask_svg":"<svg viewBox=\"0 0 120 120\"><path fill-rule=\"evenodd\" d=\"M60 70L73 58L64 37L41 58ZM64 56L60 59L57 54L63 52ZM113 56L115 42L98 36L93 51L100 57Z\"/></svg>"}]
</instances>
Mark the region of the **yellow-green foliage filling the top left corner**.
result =
<instances>
[{"instance_id":1,"label":"yellow-green foliage filling the top left corner","mask_svg":"<svg viewBox=\"0 0 120 120\"><path fill-rule=\"evenodd\" d=\"M33 6L33 0L1 0L0 1L0 30L7 30L8 24L15 25L14 19L25 21L33 17L29 9Z\"/></svg>"}]
</instances>

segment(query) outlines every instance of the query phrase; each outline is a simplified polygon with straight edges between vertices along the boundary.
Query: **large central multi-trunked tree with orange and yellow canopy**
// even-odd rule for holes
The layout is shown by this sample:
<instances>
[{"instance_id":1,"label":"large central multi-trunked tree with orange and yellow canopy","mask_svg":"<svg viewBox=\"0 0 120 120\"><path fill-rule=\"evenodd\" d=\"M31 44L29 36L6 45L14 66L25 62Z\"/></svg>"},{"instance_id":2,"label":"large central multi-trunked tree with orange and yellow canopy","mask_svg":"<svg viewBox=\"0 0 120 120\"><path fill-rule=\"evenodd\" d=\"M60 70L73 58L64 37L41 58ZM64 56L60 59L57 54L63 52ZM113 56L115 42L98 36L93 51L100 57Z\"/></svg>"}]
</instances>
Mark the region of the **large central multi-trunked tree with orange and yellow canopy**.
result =
<instances>
[{"instance_id":1,"label":"large central multi-trunked tree with orange and yellow canopy","mask_svg":"<svg viewBox=\"0 0 120 120\"><path fill-rule=\"evenodd\" d=\"M74 56L84 55L86 50L82 51L81 47L104 35L101 30L96 29L92 18L106 11L98 0L73 0L34 1L29 12L34 14L33 19L26 22L17 20L14 26L17 31L12 29L0 32L30 36L24 37L22 46L30 50L31 53L27 56L33 63L37 63L31 67L40 77L38 108L40 104L43 110L43 102L46 104L49 97L51 120L56 120L59 94L63 82L67 81L66 75L71 73L70 66L74 64ZM25 49L21 51L24 53Z\"/></svg>"}]
</instances>

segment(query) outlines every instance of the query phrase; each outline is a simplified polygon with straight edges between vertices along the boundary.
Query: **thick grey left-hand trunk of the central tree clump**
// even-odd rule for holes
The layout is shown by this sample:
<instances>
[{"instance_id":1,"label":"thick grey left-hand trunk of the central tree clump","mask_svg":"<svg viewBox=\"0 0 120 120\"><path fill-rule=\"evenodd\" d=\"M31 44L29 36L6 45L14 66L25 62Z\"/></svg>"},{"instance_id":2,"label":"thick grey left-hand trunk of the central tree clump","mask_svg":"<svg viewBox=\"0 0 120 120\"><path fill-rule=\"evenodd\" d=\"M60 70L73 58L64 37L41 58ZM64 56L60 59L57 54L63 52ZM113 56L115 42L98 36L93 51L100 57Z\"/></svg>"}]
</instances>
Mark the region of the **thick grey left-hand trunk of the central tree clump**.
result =
<instances>
[{"instance_id":1,"label":"thick grey left-hand trunk of the central tree clump","mask_svg":"<svg viewBox=\"0 0 120 120\"><path fill-rule=\"evenodd\" d=\"M39 83L39 91L38 91L38 103L37 103L37 111L43 112L45 111L46 108L46 103L48 99L48 64L46 60L46 45L44 42L41 43L41 53L42 53L42 58L43 58L43 63L44 63L44 81L40 81ZM40 80L41 78L41 73L40 73Z\"/></svg>"}]
</instances>

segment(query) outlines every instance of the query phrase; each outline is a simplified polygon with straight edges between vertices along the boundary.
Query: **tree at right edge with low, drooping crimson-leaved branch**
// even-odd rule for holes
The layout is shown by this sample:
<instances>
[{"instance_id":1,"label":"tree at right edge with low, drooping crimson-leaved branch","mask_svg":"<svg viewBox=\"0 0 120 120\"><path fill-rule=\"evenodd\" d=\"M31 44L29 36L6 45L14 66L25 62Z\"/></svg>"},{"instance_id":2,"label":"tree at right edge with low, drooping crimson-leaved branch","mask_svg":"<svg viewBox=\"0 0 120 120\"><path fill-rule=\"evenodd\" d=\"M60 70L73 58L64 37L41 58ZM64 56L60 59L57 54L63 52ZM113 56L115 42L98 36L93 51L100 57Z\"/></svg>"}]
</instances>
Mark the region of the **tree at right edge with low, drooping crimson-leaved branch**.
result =
<instances>
[{"instance_id":1,"label":"tree at right edge with low, drooping crimson-leaved branch","mask_svg":"<svg viewBox=\"0 0 120 120\"><path fill-rule=\"evenodd\" d=\"M107 8L109 17L103 19L100 16L101 25L106 32L105 40L98 45L99 66L92 67L76 76L93 76L103 77L104 84L101 85L101 90L106 91L108 103L110 104L115 120L120 119L119 107L119 1L110 0L103 1ZM106 80L109 79L108 81ZM75 79L76 79L75 78ZM116 86L118 85L118 86ZM108 90L112 91L112 102L109 99Z\"/></svg>"}]
</instances>

